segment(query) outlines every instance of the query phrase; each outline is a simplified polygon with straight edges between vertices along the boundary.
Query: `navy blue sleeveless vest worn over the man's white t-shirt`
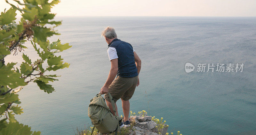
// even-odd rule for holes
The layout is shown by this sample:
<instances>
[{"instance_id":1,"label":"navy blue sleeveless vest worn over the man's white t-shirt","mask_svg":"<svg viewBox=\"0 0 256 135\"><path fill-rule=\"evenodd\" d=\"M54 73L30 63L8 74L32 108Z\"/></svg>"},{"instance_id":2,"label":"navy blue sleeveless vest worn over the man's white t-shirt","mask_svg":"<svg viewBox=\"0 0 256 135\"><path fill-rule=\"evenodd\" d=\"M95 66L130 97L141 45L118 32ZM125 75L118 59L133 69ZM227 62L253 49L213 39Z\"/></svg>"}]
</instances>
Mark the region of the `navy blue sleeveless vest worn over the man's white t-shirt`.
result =
<instances>
[{"instance_id":1,"label":"navy blue sleeveless vest worn over the man's white t-shirt","mask_svg":"<svg viewBox=\"0 0 256 135\"><path fill-rule=\"evenodd\" d=\"M118 56L117 76L128 78L138 76L131 44L116 38L108 45L108 47L116 48Z\"/></svg>"}]
</instances>

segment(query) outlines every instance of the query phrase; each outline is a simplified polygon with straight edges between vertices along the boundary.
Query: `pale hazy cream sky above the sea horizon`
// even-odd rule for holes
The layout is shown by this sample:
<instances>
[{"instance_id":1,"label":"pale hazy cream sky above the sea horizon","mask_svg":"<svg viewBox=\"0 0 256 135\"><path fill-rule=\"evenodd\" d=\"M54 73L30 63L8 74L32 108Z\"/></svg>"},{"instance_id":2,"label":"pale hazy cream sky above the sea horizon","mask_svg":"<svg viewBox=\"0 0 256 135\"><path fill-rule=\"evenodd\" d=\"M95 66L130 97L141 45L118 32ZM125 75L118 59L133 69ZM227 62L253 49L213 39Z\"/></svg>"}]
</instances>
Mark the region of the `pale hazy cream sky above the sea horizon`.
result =
<instances>
[{"instance_id":1,"label":"pale hazy cream sky above the sea horizon","mask_svg":"<svg viewBox=\"0 0 256 135\"><path fill-rule=\"evenodd\" d=\"M0 11L4 8L10 6L0 0ZM57 16L256 16L256 0L61 0L52 12Z\"/></svg>"}]
</instances>

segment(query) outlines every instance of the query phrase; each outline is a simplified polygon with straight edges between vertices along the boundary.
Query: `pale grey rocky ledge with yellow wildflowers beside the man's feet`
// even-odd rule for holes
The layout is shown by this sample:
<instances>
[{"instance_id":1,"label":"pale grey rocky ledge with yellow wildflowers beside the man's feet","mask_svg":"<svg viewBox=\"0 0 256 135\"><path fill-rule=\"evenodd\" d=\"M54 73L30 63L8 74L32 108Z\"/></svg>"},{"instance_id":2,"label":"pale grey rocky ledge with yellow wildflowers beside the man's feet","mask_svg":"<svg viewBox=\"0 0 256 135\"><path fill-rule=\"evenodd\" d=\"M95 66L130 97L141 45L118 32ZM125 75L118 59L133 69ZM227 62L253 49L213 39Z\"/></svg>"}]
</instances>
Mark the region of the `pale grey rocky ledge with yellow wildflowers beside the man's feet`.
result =
<instances>
[{"instance_id":1,"label":"pale grey rocky ledge with yellow wildflowers beside the man's feet","mask_svg":"<svg viewBox=\"0 0 256 135\"><path fill-rule=\"evenodd\" d=\"M153 119L151 116L147 116L147 114L131 116L130 121L133 126L129 135L165 135L168 125L161 123L163 128L159 129L157 127L158 124Z\"/></svg>"}]
</instances>

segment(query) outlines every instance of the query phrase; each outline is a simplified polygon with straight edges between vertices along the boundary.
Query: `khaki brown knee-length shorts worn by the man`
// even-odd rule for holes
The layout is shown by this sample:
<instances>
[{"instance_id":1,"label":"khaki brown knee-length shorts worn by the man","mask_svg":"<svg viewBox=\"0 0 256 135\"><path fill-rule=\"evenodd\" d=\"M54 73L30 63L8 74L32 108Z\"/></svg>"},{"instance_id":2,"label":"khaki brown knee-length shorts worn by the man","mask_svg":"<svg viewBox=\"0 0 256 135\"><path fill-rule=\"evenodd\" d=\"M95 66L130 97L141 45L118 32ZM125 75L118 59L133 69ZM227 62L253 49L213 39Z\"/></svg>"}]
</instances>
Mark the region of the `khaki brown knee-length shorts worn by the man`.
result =
<instances>
[{"instance_id":1,"label":"khaki brown knee-length shorts worn by the man","mask_svg":"<svg viewBox=\"0 0 256 135\"><path fill-rule=\"evenodd\" d=\"M109 85L108 92L113 97L115 103L120 98L127 101L132 98L137 83L138 76L131 78L117 76L116 79ZM105 94L105 99L110 102L108 94Z\"/></svg>"}]
</instances>

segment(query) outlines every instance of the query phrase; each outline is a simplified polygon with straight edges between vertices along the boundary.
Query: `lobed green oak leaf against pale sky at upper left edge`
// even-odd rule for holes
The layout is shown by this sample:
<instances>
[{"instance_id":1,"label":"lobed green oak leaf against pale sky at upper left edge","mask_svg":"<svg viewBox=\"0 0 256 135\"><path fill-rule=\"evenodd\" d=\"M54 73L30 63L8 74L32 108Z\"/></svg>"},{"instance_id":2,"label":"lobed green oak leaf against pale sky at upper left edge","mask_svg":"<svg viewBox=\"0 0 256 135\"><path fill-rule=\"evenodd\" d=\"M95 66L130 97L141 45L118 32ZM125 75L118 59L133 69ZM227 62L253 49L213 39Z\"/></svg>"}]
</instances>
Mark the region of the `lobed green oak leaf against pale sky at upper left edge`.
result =
<instances>
[{"instance_id":1,"label":"lobed green oak leaf against pale sky at upper left edge","mask_svg":"<svg viewBox=\"0 0 256 135\"><path fill-rule=\"evenodd\" d=\"M0 25L10 24L12 21L16 20L15 16L17 15L16 9L10 8L8 11L1 12L0 16Z\"/></svg>"}]
</instances>

